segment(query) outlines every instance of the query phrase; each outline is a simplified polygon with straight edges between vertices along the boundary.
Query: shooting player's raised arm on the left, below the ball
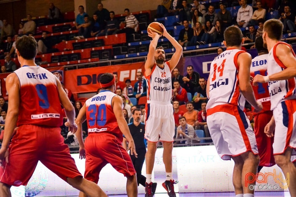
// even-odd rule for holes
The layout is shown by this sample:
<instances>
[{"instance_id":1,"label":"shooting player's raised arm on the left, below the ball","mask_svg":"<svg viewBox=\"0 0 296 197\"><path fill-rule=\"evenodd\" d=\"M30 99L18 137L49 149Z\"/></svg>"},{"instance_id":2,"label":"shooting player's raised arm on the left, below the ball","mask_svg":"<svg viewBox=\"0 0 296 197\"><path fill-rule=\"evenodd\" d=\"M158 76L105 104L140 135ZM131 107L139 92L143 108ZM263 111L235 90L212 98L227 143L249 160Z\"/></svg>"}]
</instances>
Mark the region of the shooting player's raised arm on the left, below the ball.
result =
<instances>
[{"instance_id":1,"label":"shooting player's raised arm on the left, below the ball","mask_svg":"<svg viewBox=\"0 0 296 197\"><path fill-rule=\"evenodd\" d=\"M145 62L145 76L149 76L151 74L152 67L154 65L155 49L157 46L158 39L160 38L161 35L159 35L158 33L152 32L150 31L150 29L148 29L148 36L152 38L152 41L150 42L147 60Z\"/></svg>"}]
</instances>

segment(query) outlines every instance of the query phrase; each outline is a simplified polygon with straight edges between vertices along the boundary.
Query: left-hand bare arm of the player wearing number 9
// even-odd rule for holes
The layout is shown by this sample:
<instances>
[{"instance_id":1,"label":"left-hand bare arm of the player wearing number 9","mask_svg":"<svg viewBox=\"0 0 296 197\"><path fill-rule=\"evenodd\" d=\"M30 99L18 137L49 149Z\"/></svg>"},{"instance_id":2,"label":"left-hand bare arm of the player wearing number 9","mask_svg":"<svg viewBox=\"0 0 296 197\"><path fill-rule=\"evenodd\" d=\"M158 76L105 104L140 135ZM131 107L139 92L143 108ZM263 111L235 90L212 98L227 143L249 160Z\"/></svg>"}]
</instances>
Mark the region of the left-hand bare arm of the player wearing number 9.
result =
<instances>
[{"instance_id":1,"label":"left-hand bare arm of the player wearing number 9","mask_svg":"<svg viewBox=\"0 0 296 197\"><path fill-rule=\"evenodd\" d=\"M6 90L8 94L8 111L6 115L5 132L3 136L2 146L0 150L0 160L2 161L5 157L8 144L12 137L16 122L19 118L19 78L15 73L12 73L6 78Z\"/></svg>"}]
</instances>

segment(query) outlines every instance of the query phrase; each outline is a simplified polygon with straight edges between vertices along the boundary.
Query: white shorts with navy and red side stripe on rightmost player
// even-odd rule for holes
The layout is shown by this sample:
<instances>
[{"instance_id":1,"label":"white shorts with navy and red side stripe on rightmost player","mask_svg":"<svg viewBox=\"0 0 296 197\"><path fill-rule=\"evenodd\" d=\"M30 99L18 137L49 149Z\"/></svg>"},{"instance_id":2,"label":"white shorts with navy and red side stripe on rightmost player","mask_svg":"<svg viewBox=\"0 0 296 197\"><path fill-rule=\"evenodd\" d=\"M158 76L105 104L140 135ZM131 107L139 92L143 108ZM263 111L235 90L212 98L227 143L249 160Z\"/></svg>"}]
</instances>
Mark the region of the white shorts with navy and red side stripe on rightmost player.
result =
<instances>
[{"instance_id":1,"label":"white shorts with navy and red side stripe on rightmost player","mask_svg":"<svg viewBox=\"0 0 296 197\"><path fill-rule=\"evenodd\" d=\"M296 100L282 101L273 110L275 120L273 155L283 154L287 147L296 148ZM292 155L296 155L295 150Z\"/></svg>"}]
</instances>

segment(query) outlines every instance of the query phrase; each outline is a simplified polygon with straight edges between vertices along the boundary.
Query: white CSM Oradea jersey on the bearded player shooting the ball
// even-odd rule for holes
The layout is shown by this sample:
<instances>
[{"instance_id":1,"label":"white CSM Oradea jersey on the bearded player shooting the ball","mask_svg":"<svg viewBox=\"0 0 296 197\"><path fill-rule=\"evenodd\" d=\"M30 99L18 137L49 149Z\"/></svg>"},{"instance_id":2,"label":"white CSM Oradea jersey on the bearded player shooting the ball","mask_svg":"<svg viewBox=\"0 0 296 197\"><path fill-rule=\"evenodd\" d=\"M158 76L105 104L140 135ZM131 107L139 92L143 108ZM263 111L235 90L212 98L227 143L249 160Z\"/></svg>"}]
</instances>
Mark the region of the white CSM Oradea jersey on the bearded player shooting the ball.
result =
<instances>
[{"instance_id":1,"label":"white CSM Oradea jersey on the bearded player shooting the ball","mask_svg":"<svg viewBox=\"0 0 296 197\"><path fill-rule=\"evenodd\" d=\"M145 76L147 81L147 101L168 103L172 99L172 74L168 62L161 69L154 64L151 74Z\"/></svg>"}]
</instances>

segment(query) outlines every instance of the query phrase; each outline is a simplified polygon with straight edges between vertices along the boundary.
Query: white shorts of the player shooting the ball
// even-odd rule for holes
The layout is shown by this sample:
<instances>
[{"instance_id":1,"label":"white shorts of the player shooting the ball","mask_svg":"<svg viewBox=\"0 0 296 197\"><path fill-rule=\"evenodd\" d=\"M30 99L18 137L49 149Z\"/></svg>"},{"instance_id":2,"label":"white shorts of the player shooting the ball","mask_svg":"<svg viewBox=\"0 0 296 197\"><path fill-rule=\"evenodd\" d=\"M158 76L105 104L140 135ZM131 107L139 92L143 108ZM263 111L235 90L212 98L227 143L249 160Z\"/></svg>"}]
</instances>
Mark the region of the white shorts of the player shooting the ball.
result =
<instances>
[{"instance_id":1,"label":"white shorts of the player shooting the ball","mask_svg":"<svg viewBox=\"0 0 296 197\"><path fill-rule=\"evenodd\" d=\"M173 105L147 101L145 117L145 138L149 142L173 142L175 119ZM160 136L160 138L159 138Z\"/></svg>"}]
</instances>

